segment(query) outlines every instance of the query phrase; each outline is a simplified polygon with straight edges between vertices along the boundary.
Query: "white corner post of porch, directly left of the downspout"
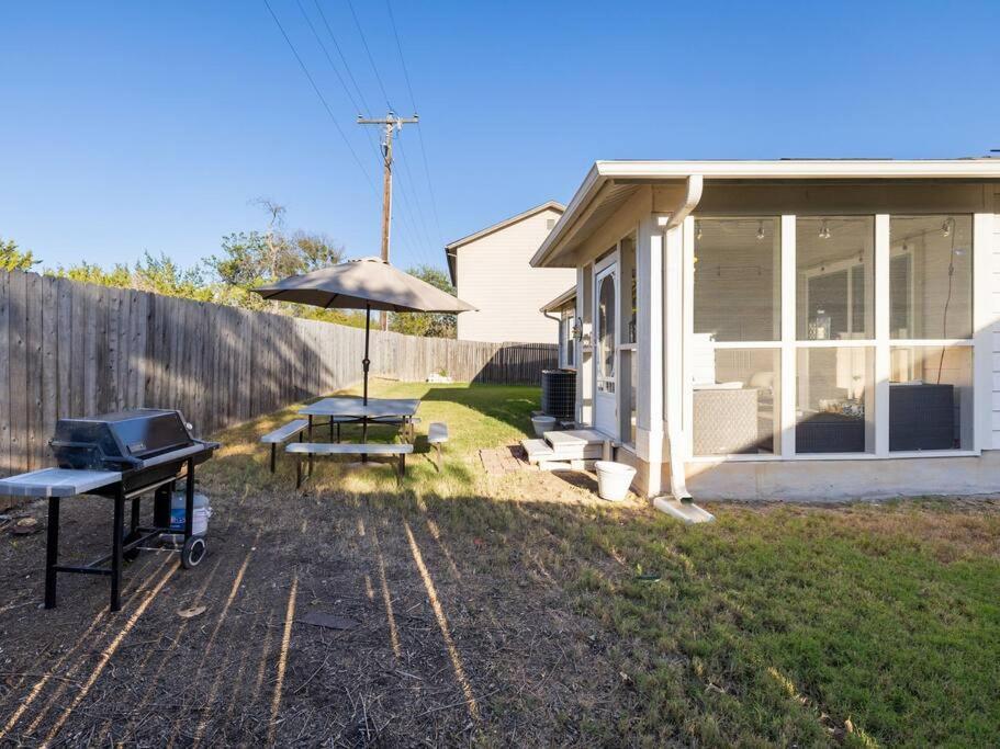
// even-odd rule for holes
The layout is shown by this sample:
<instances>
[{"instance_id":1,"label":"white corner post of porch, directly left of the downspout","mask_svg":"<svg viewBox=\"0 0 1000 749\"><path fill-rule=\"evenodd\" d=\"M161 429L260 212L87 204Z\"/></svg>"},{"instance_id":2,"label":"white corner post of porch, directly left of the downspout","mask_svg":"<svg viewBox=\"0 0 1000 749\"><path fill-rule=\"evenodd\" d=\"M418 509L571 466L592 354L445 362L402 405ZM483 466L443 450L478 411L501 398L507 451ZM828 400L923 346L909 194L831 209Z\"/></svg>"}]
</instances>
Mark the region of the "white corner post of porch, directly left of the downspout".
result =
<instances>
[{"instance_id":1,"label":"white corner post of porch, directly left of the downspout","mask_svg":"<svg viewBox=\"0 0 1000 749\"><path fill-rule=\"evenodd\" d=\"M636 452L649 464L647 495L655 497L663 491L663 234L653 216L640 222L637 242L639 402Z\"/></svg>"}]
</instances>

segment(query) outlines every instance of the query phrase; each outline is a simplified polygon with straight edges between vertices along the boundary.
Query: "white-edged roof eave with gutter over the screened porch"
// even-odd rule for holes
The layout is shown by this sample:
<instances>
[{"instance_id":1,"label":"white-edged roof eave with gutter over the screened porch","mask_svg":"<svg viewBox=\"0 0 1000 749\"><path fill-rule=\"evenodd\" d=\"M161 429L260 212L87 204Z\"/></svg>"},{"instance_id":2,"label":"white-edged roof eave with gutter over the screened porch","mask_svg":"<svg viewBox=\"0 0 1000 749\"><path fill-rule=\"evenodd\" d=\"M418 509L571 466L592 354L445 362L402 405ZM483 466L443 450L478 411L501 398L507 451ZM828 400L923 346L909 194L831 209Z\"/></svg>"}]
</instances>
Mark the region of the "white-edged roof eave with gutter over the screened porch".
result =
<instances>
[{"instance_id":1,"label":"white-edged roof eave with gutter over the screened porch","mask_svg":"<svg viewBox=\"0 0 1000 749\"><path fill-rule=\"evenodd\" d=\"M1000 180L1000 159L782 159L777 161L596 161L559 223L531 258L543 266L585 237L643 184L735 180Z\"/></svg>"}]
</instances>

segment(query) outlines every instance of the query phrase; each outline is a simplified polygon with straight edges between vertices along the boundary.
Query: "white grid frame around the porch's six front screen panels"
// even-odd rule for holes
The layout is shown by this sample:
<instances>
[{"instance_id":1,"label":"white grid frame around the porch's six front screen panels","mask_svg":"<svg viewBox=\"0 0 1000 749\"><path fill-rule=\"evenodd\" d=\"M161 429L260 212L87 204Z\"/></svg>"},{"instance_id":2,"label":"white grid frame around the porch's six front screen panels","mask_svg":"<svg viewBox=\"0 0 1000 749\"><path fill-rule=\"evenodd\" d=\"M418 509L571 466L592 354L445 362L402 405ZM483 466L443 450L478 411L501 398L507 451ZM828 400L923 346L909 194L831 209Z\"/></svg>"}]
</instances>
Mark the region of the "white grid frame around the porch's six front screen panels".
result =
<instances>
[{"instance_id":1,"label":"white grid frame around the porch's six front screen panels","mask_svg":"<svg viewBox=\"0 0 1000 749\"><path fill-rule=\"evenodd\" d=\"M852 214L854 215L854 214ZM911 215L911 214L900 214ZM694 432L687 430L684 441L684 459L690 463L726 462L778 462L778 461L869 461L869 459L907 459L918 457L974 457L991 446L992 427L992 355L991 355L991 315L989 300L992 290L992 250L993 250L993 214L974 213L973 216L973 338L971 339L894 339L890 338L890 296L887 272L890 259L899 252L891 252L889 234L890 214L875 214L875 339L865 340L823 340L800 341L797 332L797 295L796 281L796 215L780 216L782 248L782 326L780 339L775 341L726 341L712 343L719 349L780 349L780 452L777 454L729 454L695 455ZM706 216L716 218L716 216ZM720 218L724 216L718 216ZM697 216L700 220L703 216ZM682 235L682 257L684 273L684 340L683 340L683 423L692 423L694 408L694 384L690 376L694 336L694 253L695 253L695 216L684 222ZM1000 270L1000 269L998 269ZM973 349L973 449L971 450L928 450L928 451L889 451L889 377L891 374L891 350L902 347L967 347ZM866 421L874 420L875 450L865 453L802 453L795 451L796 428L796 372L797 351L799 349L823 348L868 348L875 351L875 409L866 415ZM777 432L778 430L776 430Z\"/></svg>"}]
</instances>

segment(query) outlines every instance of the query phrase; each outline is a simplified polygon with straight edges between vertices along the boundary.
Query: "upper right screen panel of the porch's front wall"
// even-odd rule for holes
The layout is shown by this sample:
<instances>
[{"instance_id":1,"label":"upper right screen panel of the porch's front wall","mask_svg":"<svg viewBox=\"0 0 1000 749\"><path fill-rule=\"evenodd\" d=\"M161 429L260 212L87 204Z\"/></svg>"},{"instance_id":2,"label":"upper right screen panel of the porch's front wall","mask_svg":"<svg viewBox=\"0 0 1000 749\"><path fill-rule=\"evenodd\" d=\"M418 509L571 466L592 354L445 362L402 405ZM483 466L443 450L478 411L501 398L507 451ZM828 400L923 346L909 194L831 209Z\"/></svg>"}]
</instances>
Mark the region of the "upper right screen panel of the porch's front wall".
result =
<instances>
[{"instance_id":1,"label":"upper right screen panel of the porch's front wall","mask_svg":"<svg viewBox=\"0 0 1000 749\"><path fill-rule=\"evenodd\" d=\"M895 339L971 338L973 217L891 216Z\"/></svg>"}]
</instances>

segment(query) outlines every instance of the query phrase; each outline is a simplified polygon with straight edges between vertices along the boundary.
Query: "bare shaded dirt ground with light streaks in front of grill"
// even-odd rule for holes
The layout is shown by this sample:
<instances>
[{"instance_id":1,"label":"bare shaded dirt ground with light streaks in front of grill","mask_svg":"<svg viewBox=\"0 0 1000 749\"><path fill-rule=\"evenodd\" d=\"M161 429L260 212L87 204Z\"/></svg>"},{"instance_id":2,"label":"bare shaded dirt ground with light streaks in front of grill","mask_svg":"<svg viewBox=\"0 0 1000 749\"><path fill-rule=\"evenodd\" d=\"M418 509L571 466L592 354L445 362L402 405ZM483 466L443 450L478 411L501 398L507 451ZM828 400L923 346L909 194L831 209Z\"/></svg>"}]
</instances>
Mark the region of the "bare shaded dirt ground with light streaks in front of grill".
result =
<instances>
[{"instance_id":1,"label":"bare shaded dirt ground with light streaks in front of grill","mask_svg":"<svg viewBox=\"0 0 1000 749\"><path fill-rule=\"evenodd\" d=\"M0 538L5 740L540 746L585 742L580 724L618 708L607 695L621 678L594 657L607 635L488 520L454 536L435 521L440 501L413 493L297 493L281 475L231 496L206 473L210 555L188 571L144 554L116 614L106 580L79 576L40 610L44 533ZM549 486L541 495L593 501L552 475L533 480ZM475 517L487 500L456 501ZM44 506L27 509L44 520ZM108 510L64 502L63 558L106 552ZM306 623L313 614L344 628Z\"/></svg>"}]
</instances>

